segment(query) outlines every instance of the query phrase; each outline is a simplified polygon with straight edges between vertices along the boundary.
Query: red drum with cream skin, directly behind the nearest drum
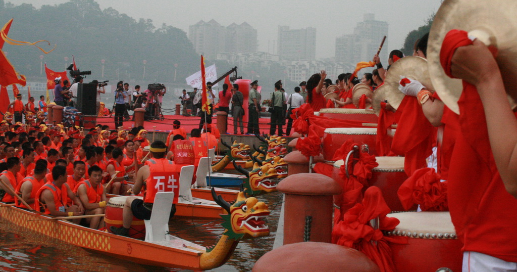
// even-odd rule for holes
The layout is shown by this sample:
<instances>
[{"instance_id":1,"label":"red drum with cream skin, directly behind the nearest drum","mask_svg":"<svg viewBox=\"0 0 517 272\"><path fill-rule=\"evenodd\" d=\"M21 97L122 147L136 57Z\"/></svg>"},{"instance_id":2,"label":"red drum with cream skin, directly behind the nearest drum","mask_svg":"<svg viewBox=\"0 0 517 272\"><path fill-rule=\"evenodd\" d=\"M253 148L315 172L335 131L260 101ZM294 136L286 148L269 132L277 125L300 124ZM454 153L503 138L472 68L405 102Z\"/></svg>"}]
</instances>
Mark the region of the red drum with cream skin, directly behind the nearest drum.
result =
<instances>
[{"instance_id":1,"label":"red drum with cream skin, directly behind the nearest drum","mask_svg":"<svg viewBox=\"0 0 517 272\"><path fill-rule=\"evenodd\" d=\"M372 177L369 181L370 186L376 186L381 189L386 204L391 211L404 211L402 203L400 203L397 191L400 185L407 179L404 172L404 157L376 157L375 160L379 164L372 169ZM343 160L334 163L332 178L342 184L343 179L340 177L340 167L344 164ZM363 189L363 191L366 188ZM334 203L341 203L341 195L334 196ZM417 206L411 208L416 210Z\"/></svg>"}]
</instances>

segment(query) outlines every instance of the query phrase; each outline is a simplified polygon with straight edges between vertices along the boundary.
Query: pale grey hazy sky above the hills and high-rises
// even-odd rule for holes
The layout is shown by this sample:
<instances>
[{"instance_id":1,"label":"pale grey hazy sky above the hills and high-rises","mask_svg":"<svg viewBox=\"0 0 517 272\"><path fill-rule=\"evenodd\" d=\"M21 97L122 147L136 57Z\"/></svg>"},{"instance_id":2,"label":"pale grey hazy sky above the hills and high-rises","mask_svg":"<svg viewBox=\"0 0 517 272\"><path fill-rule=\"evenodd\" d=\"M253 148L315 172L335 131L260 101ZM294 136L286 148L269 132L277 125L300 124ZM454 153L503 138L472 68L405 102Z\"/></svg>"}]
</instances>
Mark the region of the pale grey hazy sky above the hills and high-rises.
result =
<instances>
[{"instance_id":1,"label":"pale grey hazy sky above the hills and high-rises","mask_svg":"<svg viewBox=\"0 0 517 272\"><path fill-rule=\"evenodd\" d=\"M68 0L6 0L13 4L29 3L36 8ZM388 50L400 49L409 31L424 24L438 10L441 0L96 0L101 9L113 7L138 20L153 19L184 30L200 20L215 19L223 26L248 22L258 32L258 50L273 53L278 25L292 29L316 28L316 58L334 56L336 37L351 34L364 13L374 13L375 20L389 23ZM16 18L15 18L16 19ZM128 42L132 41L128 38ZM136 41L138 42L138 41ZM381 41L379 41L380 44ZM269 50L268 50L269 44ZM276 51L276 50L275 50ZM372 52L372 55L375 52Z\"/></svg>"}]
</instances>

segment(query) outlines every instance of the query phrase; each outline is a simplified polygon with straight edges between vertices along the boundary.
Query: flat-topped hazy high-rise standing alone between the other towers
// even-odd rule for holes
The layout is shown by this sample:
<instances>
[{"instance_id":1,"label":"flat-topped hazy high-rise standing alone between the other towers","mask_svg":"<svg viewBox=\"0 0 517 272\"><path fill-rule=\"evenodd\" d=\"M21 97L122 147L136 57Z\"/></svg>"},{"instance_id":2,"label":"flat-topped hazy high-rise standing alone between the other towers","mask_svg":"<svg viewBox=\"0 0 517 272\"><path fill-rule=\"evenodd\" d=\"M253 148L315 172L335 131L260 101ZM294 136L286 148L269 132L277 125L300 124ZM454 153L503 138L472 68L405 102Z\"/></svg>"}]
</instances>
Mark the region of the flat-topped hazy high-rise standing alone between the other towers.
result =
<instances>
[{"instance_id":1,"label":"flat-topped hazy high-rise standing alone between the other towers","mask_svg":"<svg viewBox=\"0 0 517 272\"><path fill-rule=\"evenodd\" d=\"M289 26L279 25L278 54L284 60L315 60L316 28L290 30Z\"/></svg>"}]
</instances>

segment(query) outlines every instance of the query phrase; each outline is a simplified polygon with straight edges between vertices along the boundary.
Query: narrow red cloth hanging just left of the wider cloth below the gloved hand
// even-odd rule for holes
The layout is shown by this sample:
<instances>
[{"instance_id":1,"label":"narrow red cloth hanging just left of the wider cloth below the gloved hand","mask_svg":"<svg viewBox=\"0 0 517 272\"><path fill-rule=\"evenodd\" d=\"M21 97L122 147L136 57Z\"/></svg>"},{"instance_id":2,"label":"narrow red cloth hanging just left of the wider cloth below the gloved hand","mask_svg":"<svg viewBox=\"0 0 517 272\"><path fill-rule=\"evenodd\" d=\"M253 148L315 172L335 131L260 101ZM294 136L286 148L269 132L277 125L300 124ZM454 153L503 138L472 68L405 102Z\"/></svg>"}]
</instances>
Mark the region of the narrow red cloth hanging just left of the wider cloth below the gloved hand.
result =
<instances>
[{"instance_id":1,"label":"narrow red cloth hanging just left of the wider cloth below the gloved hand","mask_svg":"<svg viewBox=\"0 0 517 272\"><path fill-rule=\"evenodd\" d=\"M395 113L386 109L386 103L381 102L381 111L377 121L377 137L375 150L378 156L394 156L391 152L392 137L388 136L388 128L395 123Z\"/></svg>"}]
</instances>

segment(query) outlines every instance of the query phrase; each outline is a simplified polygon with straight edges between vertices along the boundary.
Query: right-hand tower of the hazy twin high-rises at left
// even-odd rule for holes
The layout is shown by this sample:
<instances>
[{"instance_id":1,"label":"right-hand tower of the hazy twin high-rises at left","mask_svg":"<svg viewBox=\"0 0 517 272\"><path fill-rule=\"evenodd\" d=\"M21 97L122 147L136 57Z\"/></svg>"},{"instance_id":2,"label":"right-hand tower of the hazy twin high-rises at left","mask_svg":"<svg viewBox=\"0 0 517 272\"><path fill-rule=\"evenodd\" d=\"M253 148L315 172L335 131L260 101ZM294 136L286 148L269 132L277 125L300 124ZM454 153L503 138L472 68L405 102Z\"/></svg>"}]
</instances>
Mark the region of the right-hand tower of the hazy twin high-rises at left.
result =
<instances>
[{"instance_id":1,"label":"right-hand tower of the hazy twin high-rises at left","mask_svg":"<svg viewBox=\"0 0 517 272\"><path fill-rule=\"evenodd\" d=\"M255 53L257 30L247 22L226 26L225 51L230 53Z\"/></svg>"}]
</instances>

